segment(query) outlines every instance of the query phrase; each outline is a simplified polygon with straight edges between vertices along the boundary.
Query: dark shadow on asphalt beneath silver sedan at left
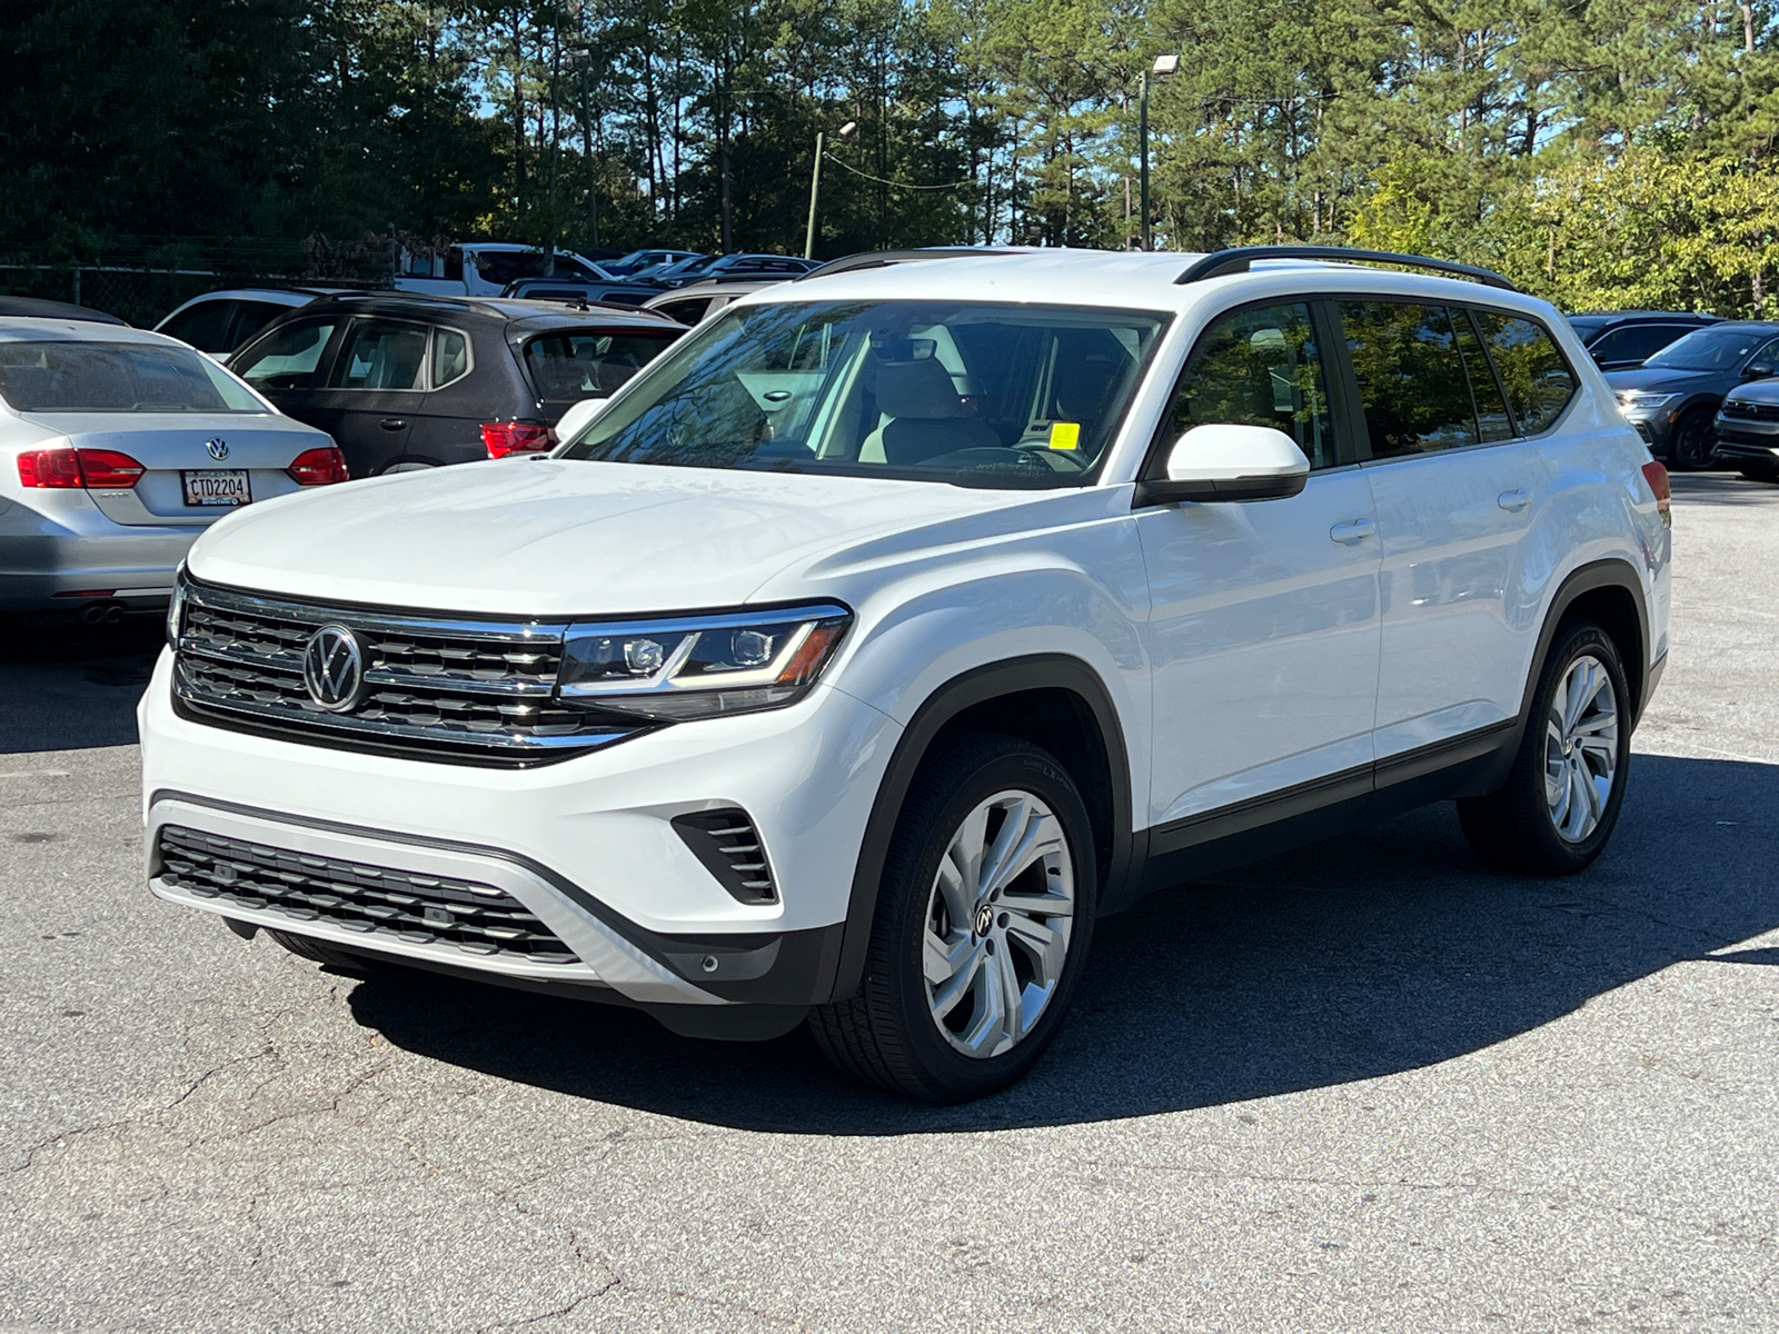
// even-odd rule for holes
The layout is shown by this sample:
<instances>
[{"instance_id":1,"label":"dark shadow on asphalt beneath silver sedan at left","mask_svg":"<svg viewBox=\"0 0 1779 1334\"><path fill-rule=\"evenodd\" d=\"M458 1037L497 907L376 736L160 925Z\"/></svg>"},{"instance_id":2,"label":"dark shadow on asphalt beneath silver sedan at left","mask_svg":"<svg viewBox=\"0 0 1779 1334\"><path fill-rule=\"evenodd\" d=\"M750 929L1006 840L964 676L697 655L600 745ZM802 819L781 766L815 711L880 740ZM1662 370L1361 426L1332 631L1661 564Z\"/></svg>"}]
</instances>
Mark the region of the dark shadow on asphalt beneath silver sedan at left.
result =
<instances>
[{"instance_id":1,"label":"dark shadow on asphalt beneath silver sedan at left","mask_svg":"<svg viewBox=\"0 0 1779 1334\"><path fill-rule=\"evenodd\" d=\"M135 743L135 703L165 617L117 626L0 619L0 754Z\"/></svg>"}]
</instances>

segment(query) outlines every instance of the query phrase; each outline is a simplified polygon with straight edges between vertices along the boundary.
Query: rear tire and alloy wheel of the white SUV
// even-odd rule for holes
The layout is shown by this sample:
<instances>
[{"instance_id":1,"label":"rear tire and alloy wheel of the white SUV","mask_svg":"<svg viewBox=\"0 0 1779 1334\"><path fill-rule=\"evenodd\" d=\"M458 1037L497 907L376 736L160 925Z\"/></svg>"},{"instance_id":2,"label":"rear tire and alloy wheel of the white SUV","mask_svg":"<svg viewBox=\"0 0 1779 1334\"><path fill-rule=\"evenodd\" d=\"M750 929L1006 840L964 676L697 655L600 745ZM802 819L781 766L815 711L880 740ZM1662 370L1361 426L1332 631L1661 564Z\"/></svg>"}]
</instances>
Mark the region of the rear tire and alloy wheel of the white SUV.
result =
<instances>
[{"instance_id":1,"label":"rear tire and alloy wheel of the white SUV","mask_svg":"<svg viewBox=\"0 0 1779 1334\"><path fill-rule=\"evenodd\" d=\"M1612 639L1596 624L1562 626L1507 783L1457 802L1478 857L1525 875L1574 875L1594 863L1624 804L1630 699Z\"/></svg>"}]
</instances>

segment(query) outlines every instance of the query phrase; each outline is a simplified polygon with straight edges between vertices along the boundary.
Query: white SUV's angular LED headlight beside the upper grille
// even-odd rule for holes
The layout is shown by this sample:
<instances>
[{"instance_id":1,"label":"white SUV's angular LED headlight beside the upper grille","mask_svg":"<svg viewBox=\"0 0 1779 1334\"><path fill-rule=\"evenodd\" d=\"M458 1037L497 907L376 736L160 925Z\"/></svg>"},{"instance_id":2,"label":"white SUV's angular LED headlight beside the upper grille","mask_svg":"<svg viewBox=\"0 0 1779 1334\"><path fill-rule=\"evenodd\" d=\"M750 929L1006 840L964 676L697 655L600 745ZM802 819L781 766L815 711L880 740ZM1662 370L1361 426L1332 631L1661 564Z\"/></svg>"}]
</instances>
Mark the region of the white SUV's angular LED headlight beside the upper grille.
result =
<instances>
[{"instance_id":1,"label":"white SUV's angular LED headlight beside the upper grille","mask_svg":"<svg viewBox=\"0 0 1779 1334\"><path fill-rule=\"evenodd\" d=\"M815 685L850 623L845 607L818 603L573 624L557 697L662 720L783 708Z\"/></svg>"}]
</instances>

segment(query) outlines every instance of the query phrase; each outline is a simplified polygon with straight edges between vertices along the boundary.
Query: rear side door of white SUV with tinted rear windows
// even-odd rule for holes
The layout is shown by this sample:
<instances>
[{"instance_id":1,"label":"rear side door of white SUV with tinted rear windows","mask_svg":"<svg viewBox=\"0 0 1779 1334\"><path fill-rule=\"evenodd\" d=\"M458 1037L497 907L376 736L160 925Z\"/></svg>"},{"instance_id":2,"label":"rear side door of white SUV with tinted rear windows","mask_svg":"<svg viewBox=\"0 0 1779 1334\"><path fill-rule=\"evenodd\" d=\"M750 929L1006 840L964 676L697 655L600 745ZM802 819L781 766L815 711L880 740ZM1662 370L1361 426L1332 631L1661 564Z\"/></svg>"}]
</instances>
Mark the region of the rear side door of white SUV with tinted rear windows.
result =
<instances>
[{"instance_id":1,"label":"rear side door of white SUV with tinted rear windows","mask_svg":"<svg viewBox=\"0 0 1779 1334\"><path fill-rule=\"evenodd\" d=\"M1548 562L1533 534L1557 484L1537 436L1576 381L1550 334L1519 317L1384 297L1332 304L1382 541L1384 788L1519 713Z\"/></svg>"}]
</instances>

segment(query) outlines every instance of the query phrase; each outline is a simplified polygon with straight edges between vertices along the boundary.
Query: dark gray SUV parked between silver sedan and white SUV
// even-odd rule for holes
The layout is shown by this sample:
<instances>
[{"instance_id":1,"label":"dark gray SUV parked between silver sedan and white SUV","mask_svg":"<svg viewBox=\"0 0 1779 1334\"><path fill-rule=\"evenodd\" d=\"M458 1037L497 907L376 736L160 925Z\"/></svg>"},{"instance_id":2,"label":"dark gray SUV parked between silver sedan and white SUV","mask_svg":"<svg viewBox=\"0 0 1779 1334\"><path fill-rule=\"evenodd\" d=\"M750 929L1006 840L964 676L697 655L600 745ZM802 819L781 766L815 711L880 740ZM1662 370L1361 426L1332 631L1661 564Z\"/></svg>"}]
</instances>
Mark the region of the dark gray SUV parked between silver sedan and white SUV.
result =
<instances>
[{"instance_id":1,"label":"dark gray SUV parked between silver sedan and white SUV","mask_svg":"<svg viewBox=\"0 0 1779 1334\"><path fill-rule=\"evenodd\" d=\"M372 477L548 448L571 404L612 393L681 333L543 301L350 295L283 315L229 366Z\"/></svg>"}]
</instances>

